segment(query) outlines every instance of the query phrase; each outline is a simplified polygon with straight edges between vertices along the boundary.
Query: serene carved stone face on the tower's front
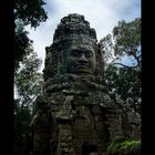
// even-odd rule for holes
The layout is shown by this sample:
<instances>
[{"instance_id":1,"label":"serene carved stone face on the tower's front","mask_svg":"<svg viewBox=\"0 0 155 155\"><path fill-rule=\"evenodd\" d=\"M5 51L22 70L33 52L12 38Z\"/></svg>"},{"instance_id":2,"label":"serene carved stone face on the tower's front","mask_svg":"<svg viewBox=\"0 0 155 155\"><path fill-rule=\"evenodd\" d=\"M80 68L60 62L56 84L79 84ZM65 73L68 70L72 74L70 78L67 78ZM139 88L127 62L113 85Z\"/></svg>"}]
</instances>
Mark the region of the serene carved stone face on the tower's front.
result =
<instances>
[{"instance_id":1,"label":"serene carved stone face on the tower's front","mask_svg":"<svg viewBox=\"0 0 155 155\"><path fill-rule=\"evenodd\" d=\"M66 71L74 74L93 74L95 52L90 45L71 45L66 58Z\"/></svg>"}]
</instances>

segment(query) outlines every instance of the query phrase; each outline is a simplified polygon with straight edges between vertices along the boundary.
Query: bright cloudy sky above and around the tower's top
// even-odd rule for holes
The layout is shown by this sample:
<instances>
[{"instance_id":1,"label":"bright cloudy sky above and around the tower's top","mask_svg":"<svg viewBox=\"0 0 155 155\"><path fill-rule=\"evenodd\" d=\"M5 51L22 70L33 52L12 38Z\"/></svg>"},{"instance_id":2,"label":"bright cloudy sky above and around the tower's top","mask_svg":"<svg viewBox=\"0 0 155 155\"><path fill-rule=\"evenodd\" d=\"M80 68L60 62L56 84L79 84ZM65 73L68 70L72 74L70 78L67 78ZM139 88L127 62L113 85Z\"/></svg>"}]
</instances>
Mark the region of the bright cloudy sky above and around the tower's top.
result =
<instances>
[{"instance_id":1,"label":"bright cloudy sky above and around the tower's top","mask_svg":"<svg viewBox=\"0 0 155 155\"><path fill-rule=\"evenodd\" d=\"M54 31L63 17L69 13L84 16L91 28L96 31L97 41L108 33L117 22L126 22L141 18L141 0L44 0L44 9L48 12L48 20L34 30L28 25L29 38L33 40L34 51L43 63L44 68L45 46L52 44Z\"/></svg>"}]
</instances>

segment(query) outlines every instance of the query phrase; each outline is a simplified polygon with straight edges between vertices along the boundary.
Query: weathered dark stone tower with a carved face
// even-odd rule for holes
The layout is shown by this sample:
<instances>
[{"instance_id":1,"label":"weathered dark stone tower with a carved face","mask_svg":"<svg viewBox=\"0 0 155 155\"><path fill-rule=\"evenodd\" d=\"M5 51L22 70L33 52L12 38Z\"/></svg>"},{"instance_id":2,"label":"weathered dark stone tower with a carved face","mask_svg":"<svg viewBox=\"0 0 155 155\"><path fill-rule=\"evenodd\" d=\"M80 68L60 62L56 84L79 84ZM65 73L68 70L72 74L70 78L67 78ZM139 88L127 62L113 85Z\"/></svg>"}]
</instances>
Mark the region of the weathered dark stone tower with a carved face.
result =
<instances>
[{"instance_id":1,"label":"weathered dark stone tower with a carved face","mask_svg":"<svg viewBox=\"0 0 155 155\"><path fill-rule=\"evenodd\" d=\"M45 48L43 95L35 101L33 154L105 155L123 136L122 112L104 84L95 30L80 14L64 17Z\"/></svg>"}]
</instances>

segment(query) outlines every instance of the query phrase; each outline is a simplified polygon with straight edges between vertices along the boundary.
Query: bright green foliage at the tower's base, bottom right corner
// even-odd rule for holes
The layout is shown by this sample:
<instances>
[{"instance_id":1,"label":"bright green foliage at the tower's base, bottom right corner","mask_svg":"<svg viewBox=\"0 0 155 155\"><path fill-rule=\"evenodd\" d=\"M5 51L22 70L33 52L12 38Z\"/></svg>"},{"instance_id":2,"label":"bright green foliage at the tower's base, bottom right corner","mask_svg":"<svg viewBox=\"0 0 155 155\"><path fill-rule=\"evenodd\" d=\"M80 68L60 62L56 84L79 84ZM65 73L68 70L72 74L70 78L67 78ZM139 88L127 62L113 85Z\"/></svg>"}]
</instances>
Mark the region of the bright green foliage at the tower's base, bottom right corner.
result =
<instances>
[{"instance_id":1,"label":"bright green foliage at the tower's base, bottom right corner","mask_svg":"<svg viewBox=\"0 0 155 155\"><path fill-rule=\"evenodd\" d=\"M106 155L141 155L140 141L111 142Z\"/></svg>"}]
</instances>

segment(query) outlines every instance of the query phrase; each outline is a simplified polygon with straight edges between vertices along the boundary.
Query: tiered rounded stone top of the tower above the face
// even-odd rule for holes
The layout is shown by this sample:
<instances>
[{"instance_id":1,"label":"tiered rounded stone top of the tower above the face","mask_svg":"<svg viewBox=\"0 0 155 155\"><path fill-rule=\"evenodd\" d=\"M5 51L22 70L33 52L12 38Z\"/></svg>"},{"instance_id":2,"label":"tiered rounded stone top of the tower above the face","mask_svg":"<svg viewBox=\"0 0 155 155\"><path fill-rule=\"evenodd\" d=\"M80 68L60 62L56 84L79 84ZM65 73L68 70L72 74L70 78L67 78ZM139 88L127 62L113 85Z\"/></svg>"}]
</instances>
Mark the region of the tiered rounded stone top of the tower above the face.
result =
<instances>
[{"instance_id":1,"label":"tiered rounded stone top of the tower above the face","mask_svg":"<svg viewBox=\"0 0 155 155\"><path fill-rule=\"evenodd\" d=\"M82 42L87 42L84 38L95 41L96 33L94 29L90 28L90 23L83 16L73 13L61 19L61 23L55 30L53 42L72 38L74 40L75 38L81 38L83 39Z\"/></svg>"}]
</instances>

